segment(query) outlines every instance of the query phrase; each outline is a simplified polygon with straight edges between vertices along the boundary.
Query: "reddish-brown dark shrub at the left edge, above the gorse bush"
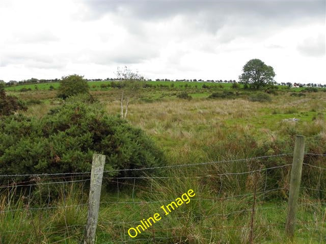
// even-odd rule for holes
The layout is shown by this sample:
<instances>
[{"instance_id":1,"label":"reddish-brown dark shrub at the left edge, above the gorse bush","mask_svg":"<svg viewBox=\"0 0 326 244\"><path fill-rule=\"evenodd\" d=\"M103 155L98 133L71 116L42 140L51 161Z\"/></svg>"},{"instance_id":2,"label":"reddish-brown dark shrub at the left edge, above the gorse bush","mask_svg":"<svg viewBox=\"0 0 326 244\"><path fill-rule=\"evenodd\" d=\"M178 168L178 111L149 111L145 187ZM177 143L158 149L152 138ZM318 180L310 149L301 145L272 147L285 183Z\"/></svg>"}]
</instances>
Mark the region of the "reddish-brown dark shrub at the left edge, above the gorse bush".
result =
<instances>
[{"instance_id":1,"label":"reddish-brown dark shrub at the left edge, above the gorse bush","mask_svg":"<svg viewBox=\"0 0 326 244\"><path fill-rule=\"evenodd\" d=\"M5 85L0 83L0 117L11 115L18 110L26 111L26 105L13 96L7 96Z\"/></svg>"}]
</instances>

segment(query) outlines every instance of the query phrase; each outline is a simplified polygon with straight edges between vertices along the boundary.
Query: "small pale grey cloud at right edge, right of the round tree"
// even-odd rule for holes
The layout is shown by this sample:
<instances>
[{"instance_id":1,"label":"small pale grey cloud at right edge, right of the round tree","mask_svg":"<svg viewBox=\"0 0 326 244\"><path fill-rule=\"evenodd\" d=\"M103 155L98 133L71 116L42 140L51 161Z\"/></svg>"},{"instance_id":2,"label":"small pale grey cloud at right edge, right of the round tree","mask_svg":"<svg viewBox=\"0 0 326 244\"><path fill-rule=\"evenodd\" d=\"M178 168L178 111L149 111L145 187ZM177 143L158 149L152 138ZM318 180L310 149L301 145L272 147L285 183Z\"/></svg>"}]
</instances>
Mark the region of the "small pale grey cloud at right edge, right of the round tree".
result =
<instances>
[{"instance_id":1,"label":"small pale grey cloud at right edge, right of the round tree","mask_svg":"<svg viewBox=\"0 0 326 244\"><path fill-rule=\"evenodd\" d=\"M297 45L297 50L305 56L320 57L325 55L325 35L307 38Z\"/></svg>"}]
</instances>

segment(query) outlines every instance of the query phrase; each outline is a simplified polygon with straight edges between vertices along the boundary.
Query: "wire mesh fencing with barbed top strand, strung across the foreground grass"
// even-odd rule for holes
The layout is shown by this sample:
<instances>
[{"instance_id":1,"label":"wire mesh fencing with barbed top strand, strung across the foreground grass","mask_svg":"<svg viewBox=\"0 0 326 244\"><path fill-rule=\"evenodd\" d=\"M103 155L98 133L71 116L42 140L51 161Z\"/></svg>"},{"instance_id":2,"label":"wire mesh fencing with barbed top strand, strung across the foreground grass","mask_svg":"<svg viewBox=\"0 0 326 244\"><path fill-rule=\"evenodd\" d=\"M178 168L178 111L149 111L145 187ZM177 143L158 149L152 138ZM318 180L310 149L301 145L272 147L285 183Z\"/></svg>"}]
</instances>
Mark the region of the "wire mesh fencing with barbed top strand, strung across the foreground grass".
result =
<instances>
[{"instance_id":1,"label":"wire mesh fencing with barbed top strand, strung across the foreground grass","mask_svg":"<svg viewBox=\"0 0 326 244\"><path fill-rule=\"evenodd\" d=\"M104 171L97 243L242 243L282 238L275 233L285 226L292 156ZM305 159L297 204L298 238L326 241L322 181L326 155L307 153ZM153 169L159 174L148 175L147 170ZM113 171L139 174L110 177ZM82 243L90 175L0 175L6 181L0 186L0 243ZM182 198L189 189L195 196ZM177 198L182 204L172 204ZM169 204L174 209L170 207L166 215L161 207ZM141 222L155 213L161 217L155 224ZM130 235L130 228L139 231Z\"/></svg>"}]
</instances>

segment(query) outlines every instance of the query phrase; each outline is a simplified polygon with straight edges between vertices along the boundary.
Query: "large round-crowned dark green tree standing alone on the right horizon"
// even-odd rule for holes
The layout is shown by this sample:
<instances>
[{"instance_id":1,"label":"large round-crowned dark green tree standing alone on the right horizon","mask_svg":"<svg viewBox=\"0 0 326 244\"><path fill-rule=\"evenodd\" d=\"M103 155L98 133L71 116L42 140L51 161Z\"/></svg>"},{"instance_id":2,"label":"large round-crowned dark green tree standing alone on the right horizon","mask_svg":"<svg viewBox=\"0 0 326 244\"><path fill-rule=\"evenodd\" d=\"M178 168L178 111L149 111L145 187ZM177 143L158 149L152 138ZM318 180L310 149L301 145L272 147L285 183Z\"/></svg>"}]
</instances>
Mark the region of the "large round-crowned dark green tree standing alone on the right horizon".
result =
<instances>
[{"instance_id":1,"label":"large round-crowned dark green tree standing alone on the right horizon","mask_svg":"<svg viewBox=\"0 0 326 244\"><path fill-rule=\"evenodd\" d=\"M275 77L273 67L265 65L258 58L249 60L243 66L242 71L243 73L239 76L239 80L244 84L250 84L255 89L259 89L272 82Z\"/></svg>"}]
</instances>

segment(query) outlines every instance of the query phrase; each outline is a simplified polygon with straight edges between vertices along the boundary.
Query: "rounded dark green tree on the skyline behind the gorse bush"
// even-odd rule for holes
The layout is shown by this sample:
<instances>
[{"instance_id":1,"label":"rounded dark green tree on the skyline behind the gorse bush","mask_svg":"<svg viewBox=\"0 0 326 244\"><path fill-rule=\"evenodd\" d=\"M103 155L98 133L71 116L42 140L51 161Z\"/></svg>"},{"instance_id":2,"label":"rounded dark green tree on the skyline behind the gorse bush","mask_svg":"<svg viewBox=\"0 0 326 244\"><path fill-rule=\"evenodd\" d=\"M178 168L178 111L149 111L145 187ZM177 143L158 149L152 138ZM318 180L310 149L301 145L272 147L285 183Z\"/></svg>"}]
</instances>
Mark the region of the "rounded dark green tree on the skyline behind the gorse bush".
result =
<instances>
[{"instance_id":1,"label":"rounded dark green tree on the skyline behind the gorse bush","mask_svg":"<svg viewBox=\"0 0 326 244\"><path fill-rule=\"evenodd\" d=\"M63 76L58 89L58 97L66 99L77 94L88 94L89 89L90 87L84 76L76 74Z\"/></svg>"}]
</instances>

